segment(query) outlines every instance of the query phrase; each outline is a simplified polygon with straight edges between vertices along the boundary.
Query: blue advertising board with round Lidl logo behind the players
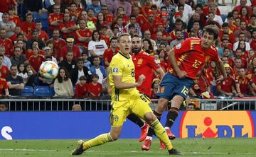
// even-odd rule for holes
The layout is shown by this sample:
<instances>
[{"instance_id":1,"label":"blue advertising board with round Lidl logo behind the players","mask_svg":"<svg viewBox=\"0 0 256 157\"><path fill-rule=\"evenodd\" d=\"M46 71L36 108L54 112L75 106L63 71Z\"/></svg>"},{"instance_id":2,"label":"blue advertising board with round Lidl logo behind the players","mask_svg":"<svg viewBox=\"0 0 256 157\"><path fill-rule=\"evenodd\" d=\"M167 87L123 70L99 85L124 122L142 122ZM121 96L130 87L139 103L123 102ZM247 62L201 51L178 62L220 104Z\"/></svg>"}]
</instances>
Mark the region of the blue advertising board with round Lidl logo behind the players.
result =
<instances>
[{"instance_id":1,"label":"blue advertising board with round Lidl logo behind the players","mask_svg":"<svg viewBox=\"0 0 256 157\"><path fill-rule=\"evenodd\" d=\"M110 112L0 112L0 139L90 139L110 131ZM164 112L161 123L166 122ZM178 138L255 137L256 111L181 111L171 131ZM127 120L121 138L139 138Z\"/></svg>"}]
</instances>

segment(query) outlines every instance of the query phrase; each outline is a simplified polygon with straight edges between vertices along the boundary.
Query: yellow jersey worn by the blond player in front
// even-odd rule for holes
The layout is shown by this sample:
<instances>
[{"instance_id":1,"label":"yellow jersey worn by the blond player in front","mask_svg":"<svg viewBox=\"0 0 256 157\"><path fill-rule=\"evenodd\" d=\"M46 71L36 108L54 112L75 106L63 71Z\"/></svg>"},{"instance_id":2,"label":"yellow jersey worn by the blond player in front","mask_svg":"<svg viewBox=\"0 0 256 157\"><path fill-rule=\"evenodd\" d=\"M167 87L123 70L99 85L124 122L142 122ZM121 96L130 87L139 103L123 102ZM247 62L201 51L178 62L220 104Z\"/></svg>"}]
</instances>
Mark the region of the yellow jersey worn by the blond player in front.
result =
<instances>
[{"instance_id":1,"label":"yellow jersey worn by the blond player in front","mask_svg":"<svg viewBox=\"0 0 256 157\"><path fill-rule=\"evenodd\" d=\"M122 82L135 83L134 63L132 62L132 56L129 57L118 52L114 55L110 62L110 87L111 87L111 99L112 102L124 101L132 97L132 95L139 94L137 88L117 89L114 87L113 76L122 76Z\"/></svg>"}]
</instances>

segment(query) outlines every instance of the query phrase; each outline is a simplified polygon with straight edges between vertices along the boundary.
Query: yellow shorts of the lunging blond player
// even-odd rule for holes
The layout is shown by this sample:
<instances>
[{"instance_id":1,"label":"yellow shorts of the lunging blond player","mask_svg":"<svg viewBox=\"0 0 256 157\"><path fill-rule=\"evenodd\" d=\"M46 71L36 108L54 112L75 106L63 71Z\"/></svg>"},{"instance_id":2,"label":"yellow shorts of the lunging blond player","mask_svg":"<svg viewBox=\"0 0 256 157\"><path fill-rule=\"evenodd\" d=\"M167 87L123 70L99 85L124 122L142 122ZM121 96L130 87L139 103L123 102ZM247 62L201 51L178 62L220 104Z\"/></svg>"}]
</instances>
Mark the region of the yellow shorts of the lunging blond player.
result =
<instances>
[{"instance_id":1,"label":"yellow shorts of the lunging blond player","mask_svg":"<svg viewBox=\"0 0 256 157\"><path fill-rule=\"evenodd\" d=\"M129 100L112 102L112 110L110 112L110 124L112 127L121 127L130 113L134 113L144 119L147 112L152 112L149 104L151 100L146 95L140 93L134 95Z\"/></svg>"}]
</instances>

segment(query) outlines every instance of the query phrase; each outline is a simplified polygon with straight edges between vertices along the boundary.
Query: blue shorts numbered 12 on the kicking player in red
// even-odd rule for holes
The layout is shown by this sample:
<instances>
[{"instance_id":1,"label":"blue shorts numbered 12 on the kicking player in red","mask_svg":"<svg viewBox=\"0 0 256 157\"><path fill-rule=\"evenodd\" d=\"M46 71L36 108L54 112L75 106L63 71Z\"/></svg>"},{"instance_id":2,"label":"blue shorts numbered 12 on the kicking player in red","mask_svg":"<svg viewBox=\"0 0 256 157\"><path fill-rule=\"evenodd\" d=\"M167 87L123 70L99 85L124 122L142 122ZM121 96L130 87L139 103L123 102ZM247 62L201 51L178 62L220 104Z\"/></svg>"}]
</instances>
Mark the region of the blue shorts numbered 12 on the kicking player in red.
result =
<instances>
[{"instance_id":1,"label":"blue shorts numbered 12 on the kicking player in red","mask_svg":"<svg viewBox=\"0 0 256 157\"><path fill-rule=\"evenodd\" d=\"M159 84L159 90L156 95L167 100L171 100L175 95L181 95L185 100L192 85L193 79L179 79L178 76L166 73Z\"/></svg>"}]
</instances>

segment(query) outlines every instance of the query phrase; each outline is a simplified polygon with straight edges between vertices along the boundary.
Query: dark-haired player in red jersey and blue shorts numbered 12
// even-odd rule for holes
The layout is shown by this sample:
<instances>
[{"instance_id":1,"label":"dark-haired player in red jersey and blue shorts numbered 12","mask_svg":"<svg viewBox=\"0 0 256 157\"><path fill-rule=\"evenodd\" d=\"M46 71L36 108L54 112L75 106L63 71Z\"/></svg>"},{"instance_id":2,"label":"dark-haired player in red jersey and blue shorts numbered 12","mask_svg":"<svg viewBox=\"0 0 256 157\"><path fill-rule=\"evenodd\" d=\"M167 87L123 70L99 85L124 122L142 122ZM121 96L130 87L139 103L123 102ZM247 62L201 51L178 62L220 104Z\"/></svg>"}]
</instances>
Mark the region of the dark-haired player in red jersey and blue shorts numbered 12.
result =
<instances>
[{"instance_id":1,"label":"dark-haired player in red jersey and blue shorts numbered 12","mask_svg":"<svg viewBox=\"0 0 256 157\"><path fill-rule=\"evenodd\" d=\"M183 100L187 98L188 91L193 85L193 79L196 78L203 65L212 60L216 62L216 66L223 74L222 79L227 77L223 62L218 57L218 51L213 46L217 39L218 28L215 25L207 25L203 28L203 37L201 39L188 38L169 51L168 57L169 62L171 62L171 69L161 80L159 93L157 93L159 102L154 110L154 114L160 119L161 114L166 110L171 100L171 109L167 114L165 124L169 139L175 138L174 134L171 134L170 128L174 124L176 117L178 117L178 111ZM146 139L142 149L149 150L150 146L151 140Z\"/></svg>"}]
</instances>

